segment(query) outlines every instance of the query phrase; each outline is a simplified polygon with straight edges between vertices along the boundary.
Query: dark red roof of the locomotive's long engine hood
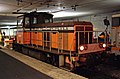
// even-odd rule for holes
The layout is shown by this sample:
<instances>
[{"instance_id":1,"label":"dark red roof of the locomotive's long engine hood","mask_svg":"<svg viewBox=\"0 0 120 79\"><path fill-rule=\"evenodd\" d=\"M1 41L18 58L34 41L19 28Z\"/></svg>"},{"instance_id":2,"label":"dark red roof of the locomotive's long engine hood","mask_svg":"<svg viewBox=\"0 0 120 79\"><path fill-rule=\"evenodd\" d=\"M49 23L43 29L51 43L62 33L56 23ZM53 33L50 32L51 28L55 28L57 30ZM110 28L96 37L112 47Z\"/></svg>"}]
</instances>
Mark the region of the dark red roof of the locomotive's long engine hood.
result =
<instances>
[{"instance_id":1,"label":"dark red roof of the locomotive's long engine hood","mask_svg":"<svg viewBox=\"0 0 120 79\"><path fill-rule=\"evenodd\" d=\"M42 27L73 27L74 25L92 25L91 22L75 21L75 22L56 22L56 23L45 23L45 24L34 24L31 28L42 28Z\"/></svg>"}]
</instances>

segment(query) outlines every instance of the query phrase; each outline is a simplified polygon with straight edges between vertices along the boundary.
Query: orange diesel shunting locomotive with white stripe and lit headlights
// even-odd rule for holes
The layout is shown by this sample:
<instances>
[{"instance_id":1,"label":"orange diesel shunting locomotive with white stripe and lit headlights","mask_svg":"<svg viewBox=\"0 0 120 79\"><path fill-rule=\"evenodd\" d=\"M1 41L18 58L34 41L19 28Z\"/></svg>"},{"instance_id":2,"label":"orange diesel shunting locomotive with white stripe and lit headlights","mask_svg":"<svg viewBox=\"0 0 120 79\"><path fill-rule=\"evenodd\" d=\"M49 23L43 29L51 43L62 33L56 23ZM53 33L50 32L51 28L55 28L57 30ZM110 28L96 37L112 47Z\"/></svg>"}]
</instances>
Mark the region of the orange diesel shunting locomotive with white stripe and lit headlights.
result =
<instances>
[{"instance_id":1,"label":"orange diesel shunting locomotive with white stripe and lit headlights","mask_svg":"<svg viewBox=\"0 0 120 79\"><path fill-rule=\"evenodd\" d=\"M26 13L18 17L13 49L58 67L75 68L98 63L106 44L94 43L90 22L57 22L45 12Z\"/></svg>"}]
</instances>

